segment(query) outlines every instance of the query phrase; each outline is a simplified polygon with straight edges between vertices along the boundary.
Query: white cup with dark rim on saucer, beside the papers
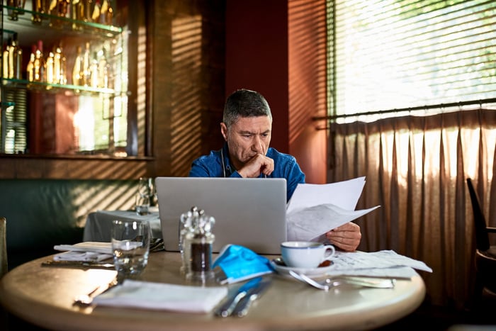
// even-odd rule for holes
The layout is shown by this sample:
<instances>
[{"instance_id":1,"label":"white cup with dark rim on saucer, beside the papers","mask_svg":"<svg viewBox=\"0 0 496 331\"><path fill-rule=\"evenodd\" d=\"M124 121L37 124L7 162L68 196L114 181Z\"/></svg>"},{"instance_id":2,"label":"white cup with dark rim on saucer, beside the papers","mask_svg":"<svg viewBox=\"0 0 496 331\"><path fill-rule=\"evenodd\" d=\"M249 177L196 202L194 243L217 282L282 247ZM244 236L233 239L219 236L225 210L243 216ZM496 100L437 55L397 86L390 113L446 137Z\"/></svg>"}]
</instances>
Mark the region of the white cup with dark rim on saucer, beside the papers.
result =
<instances>
[{"instance_id":1,"label":"white cup with dark rim on saucer, beside the papers","mask_svg":"<svg viewBox=\"0 0 496 331\"><path fill-rule=\"evenodd\" d=\"M322 262L330 261L335 252L334 246L324 245L322 242L291 241L281 243L281 255L288 267L317 268Z\"/></svg>"}]
</instances>

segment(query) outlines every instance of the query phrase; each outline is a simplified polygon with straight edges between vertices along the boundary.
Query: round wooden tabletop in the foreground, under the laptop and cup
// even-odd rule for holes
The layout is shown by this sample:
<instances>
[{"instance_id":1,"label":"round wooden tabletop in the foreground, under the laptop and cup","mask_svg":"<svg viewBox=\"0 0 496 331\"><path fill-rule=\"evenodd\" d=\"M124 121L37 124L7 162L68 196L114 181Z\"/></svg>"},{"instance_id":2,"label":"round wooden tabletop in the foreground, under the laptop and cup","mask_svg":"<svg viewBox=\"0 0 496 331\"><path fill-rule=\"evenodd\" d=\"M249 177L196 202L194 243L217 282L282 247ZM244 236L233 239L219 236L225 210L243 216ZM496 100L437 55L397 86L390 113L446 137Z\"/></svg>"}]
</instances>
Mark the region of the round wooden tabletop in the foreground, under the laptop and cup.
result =
<instances>
[{"instance_id":1,"label":"round wooden tabletop in the foreground, under the laptop and cup","mask_svg":"<svg viewBox=\"0 0 496 331\"><path fill-rule=\"evenodd\" d=\"M269 258L274 258L267 256ZM108 284L115 271L42 267L35 259L0 280L0 303L14 315L50 330L366 330L412 313L424 300L420 276L398 280L395 288L342 287L321 291L277 274L248 315L73 305L74 297ZM150 254L142 280L186 284L176 252ZM231 286L238 286L233 284Z\"/></svg>"}]
</instances>

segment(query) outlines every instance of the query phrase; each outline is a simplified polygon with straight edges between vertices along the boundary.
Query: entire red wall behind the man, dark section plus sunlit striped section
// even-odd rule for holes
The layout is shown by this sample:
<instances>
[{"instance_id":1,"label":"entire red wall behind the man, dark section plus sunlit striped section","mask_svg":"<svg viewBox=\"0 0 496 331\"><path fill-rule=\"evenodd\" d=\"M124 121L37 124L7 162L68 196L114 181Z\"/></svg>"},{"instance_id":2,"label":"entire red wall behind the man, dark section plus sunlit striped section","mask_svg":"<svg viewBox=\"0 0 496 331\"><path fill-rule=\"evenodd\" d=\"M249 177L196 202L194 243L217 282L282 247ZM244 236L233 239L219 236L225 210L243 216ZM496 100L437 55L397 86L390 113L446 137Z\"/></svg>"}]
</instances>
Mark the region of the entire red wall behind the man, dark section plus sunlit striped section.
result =
<instances>
[{"instance_id":1,"label":"entire red wall behind the man, dark section plus sunlit striped section","mask_svg":"<svg viewBox=\"0 0 496 331\"><path fill-rule=\"evenodd\" d=\"M226 1L226 97L263 94L274 117L271 147L295 156L308 183L327 177L325 0Z\"/></svg>"}]
</instances>

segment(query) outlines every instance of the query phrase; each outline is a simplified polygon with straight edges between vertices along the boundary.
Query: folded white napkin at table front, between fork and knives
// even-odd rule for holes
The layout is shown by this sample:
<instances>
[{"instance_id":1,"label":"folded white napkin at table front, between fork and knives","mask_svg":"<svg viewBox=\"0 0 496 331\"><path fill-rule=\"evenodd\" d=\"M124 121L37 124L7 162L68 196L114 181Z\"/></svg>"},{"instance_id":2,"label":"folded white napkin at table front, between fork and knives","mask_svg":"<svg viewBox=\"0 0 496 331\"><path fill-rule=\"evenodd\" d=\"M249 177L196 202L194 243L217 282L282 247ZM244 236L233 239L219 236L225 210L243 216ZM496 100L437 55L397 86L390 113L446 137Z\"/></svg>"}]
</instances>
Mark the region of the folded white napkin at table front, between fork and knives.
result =
<instances>
[{"instance_id":1,"label":"folded white napkin at table front, between fork and knives","mask_svg":"<svg viewBox=\"0 0 496 331\"><path fill-rule=\"evenodd\" d=\"M227 287L200 287L125 279L94 298L96 305L208 313L227 296Z\"/></svg>"}]
</instances>

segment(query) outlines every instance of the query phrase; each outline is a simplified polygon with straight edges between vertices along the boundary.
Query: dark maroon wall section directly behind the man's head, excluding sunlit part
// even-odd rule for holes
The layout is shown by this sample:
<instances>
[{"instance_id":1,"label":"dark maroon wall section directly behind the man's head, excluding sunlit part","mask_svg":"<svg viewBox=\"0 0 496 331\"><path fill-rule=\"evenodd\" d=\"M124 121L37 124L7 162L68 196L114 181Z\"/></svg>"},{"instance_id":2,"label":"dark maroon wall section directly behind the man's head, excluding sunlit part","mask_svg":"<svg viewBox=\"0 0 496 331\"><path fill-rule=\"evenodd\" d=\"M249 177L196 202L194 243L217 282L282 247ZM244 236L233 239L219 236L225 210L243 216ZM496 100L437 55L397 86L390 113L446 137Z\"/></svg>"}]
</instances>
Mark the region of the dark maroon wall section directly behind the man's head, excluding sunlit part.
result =
<instances>
[{"instance_id":1,"label":"dark maroon wall section directly behind the man's head, excluding sunlit part","mask_svg":"<svg viewBox=\"0 0 496 331\"><path fill-rule=\"evenodd\" d=\"M226 97L260 92L271 106L271 147L289 152L288 4L286 0L226 1Z\"/></svg>"}]
</instances>

